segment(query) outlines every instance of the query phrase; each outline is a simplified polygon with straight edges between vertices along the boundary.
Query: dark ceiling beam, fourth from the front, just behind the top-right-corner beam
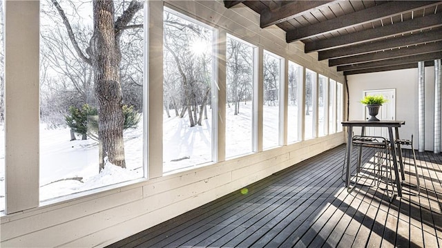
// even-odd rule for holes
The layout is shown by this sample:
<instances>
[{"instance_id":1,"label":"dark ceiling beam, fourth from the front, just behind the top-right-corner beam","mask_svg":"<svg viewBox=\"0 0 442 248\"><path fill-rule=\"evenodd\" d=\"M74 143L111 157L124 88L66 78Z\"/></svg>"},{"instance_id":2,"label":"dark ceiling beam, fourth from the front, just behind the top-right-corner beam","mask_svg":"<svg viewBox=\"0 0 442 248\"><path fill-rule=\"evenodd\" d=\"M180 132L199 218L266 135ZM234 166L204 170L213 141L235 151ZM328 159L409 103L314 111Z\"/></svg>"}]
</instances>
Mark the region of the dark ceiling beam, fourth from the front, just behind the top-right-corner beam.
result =
<instances>
[{"instance_id":1,"label":"dark ceiling beam, fourth from the front, just behind the top-right-corner beam","mask_svg":"<svg viewBox=\"0 0 442 248\"><path fill-rule=\"evenodd\" d=\"M442 12L437 13L436 15L426 15L425 17L394 23L381 28L372 28L361 32L354 32L349 35L308 42L305 44L305 53L342 48L344 46L353 46L368 41L385 39L387 37L394 37L395 35L402 35L407 32L416 32L422 29L436 28L439 26L442 26Z\"/></svg>"}]
</instances>

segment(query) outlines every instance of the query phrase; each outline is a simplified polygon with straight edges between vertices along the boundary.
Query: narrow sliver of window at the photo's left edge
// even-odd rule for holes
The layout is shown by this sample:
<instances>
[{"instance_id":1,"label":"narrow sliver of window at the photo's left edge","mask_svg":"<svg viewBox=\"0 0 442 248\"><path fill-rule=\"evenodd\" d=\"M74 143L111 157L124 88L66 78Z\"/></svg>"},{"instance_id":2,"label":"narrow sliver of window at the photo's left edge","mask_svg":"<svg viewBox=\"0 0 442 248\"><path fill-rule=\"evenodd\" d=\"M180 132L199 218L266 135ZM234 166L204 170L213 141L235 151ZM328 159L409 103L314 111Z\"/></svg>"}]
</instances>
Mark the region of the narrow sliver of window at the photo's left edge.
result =
<instances>
[{"instance_id":1,"label":"narrow sliver of window at the photo's left edge","mask_svg":"<svg viewBox=\"0 0 442 248\"><path fill-rule=\"evenodd\" d=\"M0 1L0 211L5 210L5 26L4 1Z\"/></svg>"}]
</instances>

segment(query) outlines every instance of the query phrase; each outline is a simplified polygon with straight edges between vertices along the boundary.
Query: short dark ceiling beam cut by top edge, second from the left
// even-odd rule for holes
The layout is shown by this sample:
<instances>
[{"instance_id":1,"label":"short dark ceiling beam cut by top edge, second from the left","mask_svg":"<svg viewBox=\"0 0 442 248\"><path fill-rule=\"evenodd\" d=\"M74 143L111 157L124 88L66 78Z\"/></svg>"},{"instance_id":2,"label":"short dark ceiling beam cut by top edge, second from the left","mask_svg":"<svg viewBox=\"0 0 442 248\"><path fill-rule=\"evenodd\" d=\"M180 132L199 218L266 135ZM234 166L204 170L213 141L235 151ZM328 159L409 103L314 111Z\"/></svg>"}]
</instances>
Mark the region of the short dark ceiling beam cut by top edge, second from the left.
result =
<instances>
[{"instance_id":1,"label":"short dark ceiling beam cut by top edge, second from the left","mask_svg":"<svg viewBox=\"0 0 442 248\"><path fill-rule=\"evenodd\" d=\"M284 6L262 12L260 17L260 26L261 28L267 28L274 24L281 23L282 21L287 21L289 19L294 19L296 17L308 14L318 7L324 7L334 2L336 2L336 0L290 1Z\"/></svg>"}]
</instances>

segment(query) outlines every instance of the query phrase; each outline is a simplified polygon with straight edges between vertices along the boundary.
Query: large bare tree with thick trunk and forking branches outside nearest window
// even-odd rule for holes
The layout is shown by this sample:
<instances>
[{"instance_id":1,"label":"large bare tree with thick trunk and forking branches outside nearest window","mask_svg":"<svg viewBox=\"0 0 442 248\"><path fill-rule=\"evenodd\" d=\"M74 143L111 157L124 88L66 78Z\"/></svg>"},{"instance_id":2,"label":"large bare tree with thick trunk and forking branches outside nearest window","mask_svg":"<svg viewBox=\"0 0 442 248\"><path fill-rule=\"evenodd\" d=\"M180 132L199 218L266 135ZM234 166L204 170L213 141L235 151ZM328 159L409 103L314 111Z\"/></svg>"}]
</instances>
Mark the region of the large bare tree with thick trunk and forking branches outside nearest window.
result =
<instances>
[{"instance_id":1,"label":"large bare tree with thick trunk and forking branches outside nearest window","mask_svg":"<svg viewBox=\"0 0 442 248\"><path fill-rule=\"evenodd\" d=\"M112 164L126 168L120 41L125 30L142 28L142 23L132 21L136 13L142 10L143 3L131 1L122 7L122 15L115 18L113 1L93 0L93 35L88 41L88 47L82 50L63 8L57 0L51 1L64 23L77 56L93 68L94 93L99 114L99 169L101 171L104 168L105 157Z\"/></svg>"}]
</instances>

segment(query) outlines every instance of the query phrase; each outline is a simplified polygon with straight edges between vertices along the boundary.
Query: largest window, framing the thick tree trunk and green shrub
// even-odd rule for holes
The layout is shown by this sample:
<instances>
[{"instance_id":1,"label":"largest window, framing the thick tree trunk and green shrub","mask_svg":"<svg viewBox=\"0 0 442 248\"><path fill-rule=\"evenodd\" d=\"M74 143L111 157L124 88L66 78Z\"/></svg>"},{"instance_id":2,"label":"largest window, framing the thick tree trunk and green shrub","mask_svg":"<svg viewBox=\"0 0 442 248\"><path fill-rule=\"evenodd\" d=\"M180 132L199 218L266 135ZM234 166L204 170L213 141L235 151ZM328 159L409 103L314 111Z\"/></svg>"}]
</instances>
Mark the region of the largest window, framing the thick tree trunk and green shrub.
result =
<instances>
[{"instance_id":1,"label":"largest window, framing the thick tree trunk and green shrub","mask_svg":"<svg viewBox=\"0 0 442 248\"><path fill-rule=\"evenodd\" d=\"M97 3L41 1L40 200L144 176L144 3Z\"/></svg>"}]
</instances>

